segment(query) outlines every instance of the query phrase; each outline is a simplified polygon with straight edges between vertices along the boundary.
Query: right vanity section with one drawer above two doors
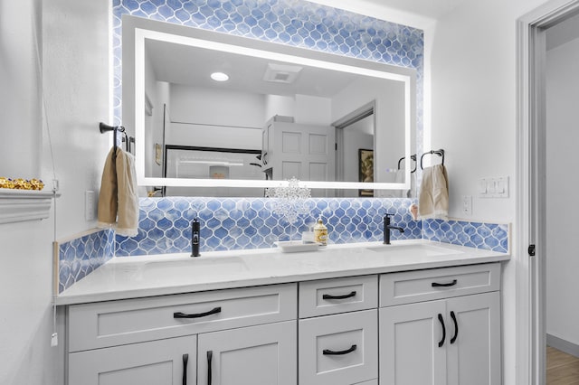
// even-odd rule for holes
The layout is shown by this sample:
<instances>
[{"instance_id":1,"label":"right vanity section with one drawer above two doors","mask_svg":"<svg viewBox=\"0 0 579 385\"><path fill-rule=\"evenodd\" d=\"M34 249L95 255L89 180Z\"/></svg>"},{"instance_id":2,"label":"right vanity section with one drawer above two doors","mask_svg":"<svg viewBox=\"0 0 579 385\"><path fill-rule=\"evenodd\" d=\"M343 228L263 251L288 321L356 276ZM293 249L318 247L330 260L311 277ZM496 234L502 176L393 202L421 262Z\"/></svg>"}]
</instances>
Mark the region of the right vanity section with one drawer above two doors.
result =
<instances>
[{"instance_id":1,"label":"right vanity section with one drawer above two doors","mask_svg":"<svg viewBox=\"0 0 579 385\"><path fill-rule=\"evenodd\" d=\"M382 275L380 384L499 385L499 288L498 263Z\"/></svg>"}]
</instances>

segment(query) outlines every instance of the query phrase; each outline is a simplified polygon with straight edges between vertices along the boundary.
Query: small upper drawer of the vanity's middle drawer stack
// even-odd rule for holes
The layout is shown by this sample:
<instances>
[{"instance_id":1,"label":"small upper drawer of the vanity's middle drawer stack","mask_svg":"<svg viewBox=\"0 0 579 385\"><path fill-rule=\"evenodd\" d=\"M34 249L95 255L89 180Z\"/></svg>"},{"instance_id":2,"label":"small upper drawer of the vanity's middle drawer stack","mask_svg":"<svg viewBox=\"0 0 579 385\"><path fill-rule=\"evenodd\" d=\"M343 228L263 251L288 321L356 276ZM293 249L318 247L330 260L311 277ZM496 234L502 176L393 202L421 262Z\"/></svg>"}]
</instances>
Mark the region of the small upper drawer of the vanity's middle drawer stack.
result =
<instances>
[{"instance_id":1,"label":"small upper drawer of the vanity's middle drawer stack","mask_svg":"<svg viewBox=\"0 0 579 385\"><path fill-rule=\"evenodd\" d=\"M299 283L299 317L377 307L378 277L346 277Z\"/></svg>"}]
</instances>

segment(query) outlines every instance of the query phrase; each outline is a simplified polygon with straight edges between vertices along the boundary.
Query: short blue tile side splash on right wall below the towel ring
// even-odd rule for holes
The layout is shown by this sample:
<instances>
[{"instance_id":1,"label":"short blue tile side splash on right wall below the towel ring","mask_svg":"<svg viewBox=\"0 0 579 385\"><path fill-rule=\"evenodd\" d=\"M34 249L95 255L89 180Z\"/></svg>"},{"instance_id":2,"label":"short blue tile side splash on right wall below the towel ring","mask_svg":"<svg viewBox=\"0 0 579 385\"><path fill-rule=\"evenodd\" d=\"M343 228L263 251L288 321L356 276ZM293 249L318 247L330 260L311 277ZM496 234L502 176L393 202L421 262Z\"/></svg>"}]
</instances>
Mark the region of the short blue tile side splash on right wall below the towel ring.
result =
<instances>
[{"instance_id":1,"label":"short blue tile side splash on right wall below the towel ring","mask_svg":"<svg viewBox=\"0 0 579 385\"><path fill-rule=\"evenodd\" d=\"M423 239L508 252L508 224L427 220L423 221L422 227Z\"/></svg>"}]
</instances>

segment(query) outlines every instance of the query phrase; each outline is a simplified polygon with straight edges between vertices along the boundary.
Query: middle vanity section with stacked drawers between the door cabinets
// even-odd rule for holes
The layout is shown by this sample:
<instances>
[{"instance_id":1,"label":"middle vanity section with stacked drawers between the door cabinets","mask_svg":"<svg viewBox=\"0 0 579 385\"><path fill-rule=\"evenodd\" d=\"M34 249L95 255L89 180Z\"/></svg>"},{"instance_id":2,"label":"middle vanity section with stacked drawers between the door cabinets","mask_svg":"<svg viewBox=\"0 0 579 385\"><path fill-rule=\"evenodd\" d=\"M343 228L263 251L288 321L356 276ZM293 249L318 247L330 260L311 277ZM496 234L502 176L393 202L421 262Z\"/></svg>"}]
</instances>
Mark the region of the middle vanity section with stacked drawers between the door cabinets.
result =
<instances>
[{"instance_id":1,"label":"middle vanity section with stacked drawers between the door cabinets","mask_svg":"<svg viewBox=\"0 0 579 385\"><path fill-rule=\"evenodd\" d=\"M299 384L376 384L378 279L299 284Z\"/></svg>"}]
</instances>

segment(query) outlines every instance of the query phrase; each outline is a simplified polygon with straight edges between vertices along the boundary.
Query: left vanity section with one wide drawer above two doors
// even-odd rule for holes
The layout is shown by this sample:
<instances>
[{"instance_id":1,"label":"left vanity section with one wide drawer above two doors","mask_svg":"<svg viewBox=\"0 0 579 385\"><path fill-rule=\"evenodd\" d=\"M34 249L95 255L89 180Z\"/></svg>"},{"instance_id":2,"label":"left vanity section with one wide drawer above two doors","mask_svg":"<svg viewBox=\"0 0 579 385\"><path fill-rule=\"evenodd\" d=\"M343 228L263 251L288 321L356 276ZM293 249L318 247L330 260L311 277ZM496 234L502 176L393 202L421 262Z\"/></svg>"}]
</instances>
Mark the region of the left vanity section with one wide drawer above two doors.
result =
<instances>
[{"instance_id":1,"label":"left vanity section with one wide drawer above two doors","mask_svg":"<svg viewBox=\"0 0 579 385\"><path fill-rule=\"evenodd\" d=\"M71 305L68 383L296 384L296 318L296 284Z\"/></svg>"}]
</instances>

